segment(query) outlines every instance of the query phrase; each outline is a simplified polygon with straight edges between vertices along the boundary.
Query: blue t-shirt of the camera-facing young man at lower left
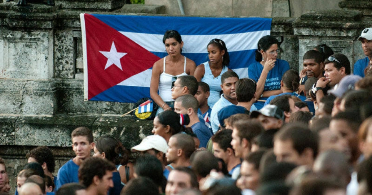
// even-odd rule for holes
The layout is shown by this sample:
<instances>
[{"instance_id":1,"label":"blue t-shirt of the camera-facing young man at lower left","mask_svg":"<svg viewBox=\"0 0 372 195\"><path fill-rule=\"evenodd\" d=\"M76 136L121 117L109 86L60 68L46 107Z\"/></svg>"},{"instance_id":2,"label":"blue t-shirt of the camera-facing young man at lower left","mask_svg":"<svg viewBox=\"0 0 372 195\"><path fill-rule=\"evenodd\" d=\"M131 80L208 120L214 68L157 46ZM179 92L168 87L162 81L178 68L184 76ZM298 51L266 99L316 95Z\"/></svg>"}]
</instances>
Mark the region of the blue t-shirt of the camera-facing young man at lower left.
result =
<instances>
[{"instance_id":1,"label":"blue t-shirt of the camera-facing young man at lower left","mask_svg":"<svg viewBox=\"0 0 372 195\"><path fill-rule=\"evenodd\" d=\"M54 191L57 192L65 183L79 183L78 170L79 166L76 165L72 159L67 161L67 163L58 170Z\"/></svg>"}]
</instances>

